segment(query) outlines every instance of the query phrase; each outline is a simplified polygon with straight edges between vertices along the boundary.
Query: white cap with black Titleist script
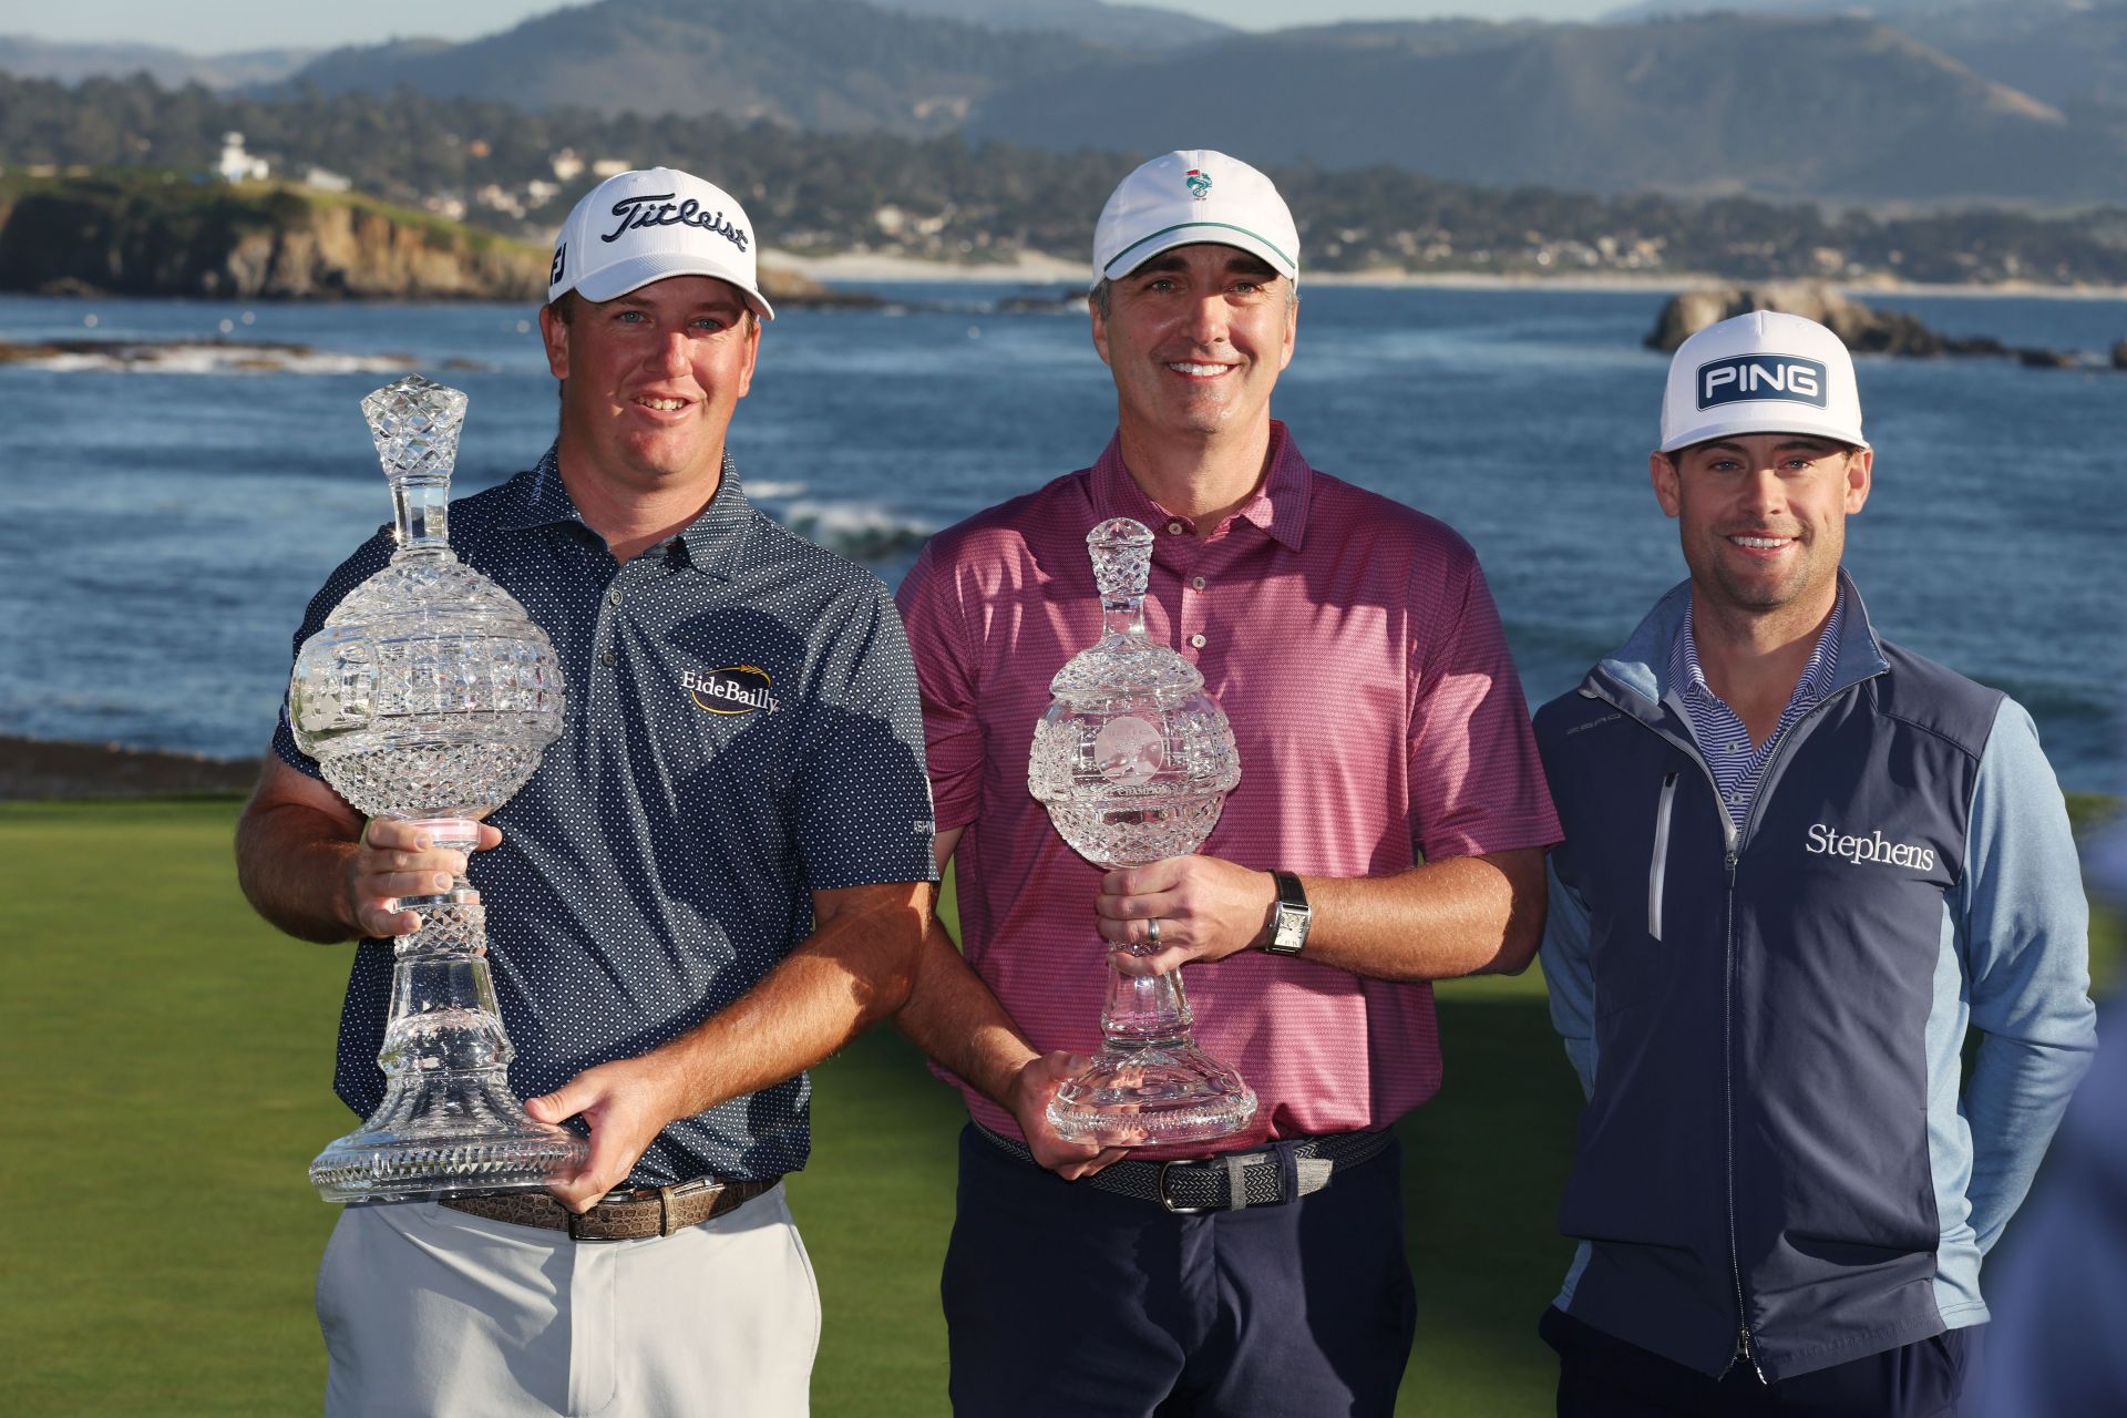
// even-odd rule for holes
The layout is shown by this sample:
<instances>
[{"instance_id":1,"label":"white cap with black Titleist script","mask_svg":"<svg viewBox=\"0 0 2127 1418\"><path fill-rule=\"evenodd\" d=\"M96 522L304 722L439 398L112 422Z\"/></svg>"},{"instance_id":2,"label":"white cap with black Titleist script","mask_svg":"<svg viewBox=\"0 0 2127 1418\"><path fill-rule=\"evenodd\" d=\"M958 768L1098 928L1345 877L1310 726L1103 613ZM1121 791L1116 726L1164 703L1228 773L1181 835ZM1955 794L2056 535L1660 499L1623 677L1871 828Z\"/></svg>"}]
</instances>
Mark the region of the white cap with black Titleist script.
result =
<instances>
[{"instance_id":1,"label":"white cap with black Titleist script","mask_svg":"<svg viewBox=\"0 0 2127 1418\"><path fill-rule=\"evenodd\" d=\"M772 321L753 266L753 223L727 191L676 168L608 176L562 223L547 302L619 300L666 276L730 281Z\"/></svg>"}]
</instances>

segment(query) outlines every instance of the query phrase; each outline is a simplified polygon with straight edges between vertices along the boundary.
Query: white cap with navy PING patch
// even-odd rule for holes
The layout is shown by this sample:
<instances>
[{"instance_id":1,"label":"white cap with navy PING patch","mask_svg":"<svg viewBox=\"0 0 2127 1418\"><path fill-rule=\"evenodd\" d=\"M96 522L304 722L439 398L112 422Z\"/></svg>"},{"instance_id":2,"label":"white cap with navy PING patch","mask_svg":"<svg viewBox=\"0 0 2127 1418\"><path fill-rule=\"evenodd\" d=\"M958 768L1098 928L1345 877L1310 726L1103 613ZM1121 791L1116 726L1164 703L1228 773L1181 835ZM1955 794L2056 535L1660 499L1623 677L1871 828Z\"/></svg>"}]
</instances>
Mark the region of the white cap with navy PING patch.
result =
<instances>
[{"instance_id":1,"label":"white cap with navy PING patch","mask_svg":"<svg viewBox=\"0 0 2127 1418\"><path fill-rule=\"evenodd\" d=\"M1661 395L1661 453L1736 434L1812 434L1865 449L1855 361L1799 315L1753 310L1676 347Z\"/></svg>"}]
</instances>

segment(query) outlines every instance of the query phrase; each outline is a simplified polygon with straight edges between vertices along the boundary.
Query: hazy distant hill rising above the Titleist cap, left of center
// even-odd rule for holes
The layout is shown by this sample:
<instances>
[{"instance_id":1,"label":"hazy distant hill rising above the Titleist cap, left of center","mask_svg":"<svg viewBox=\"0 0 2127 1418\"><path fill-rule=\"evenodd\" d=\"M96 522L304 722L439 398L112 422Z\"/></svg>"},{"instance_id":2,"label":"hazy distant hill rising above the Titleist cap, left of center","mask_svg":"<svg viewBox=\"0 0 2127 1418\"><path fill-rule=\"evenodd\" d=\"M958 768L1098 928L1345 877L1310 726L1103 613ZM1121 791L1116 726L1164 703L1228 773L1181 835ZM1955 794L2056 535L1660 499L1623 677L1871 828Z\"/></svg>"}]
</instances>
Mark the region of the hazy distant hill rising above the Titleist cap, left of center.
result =
<instances>
[{"instance_id":1,"label":"hazy distant hill rising above the Titleist cap, left of center","mask_svg":"<svg viewBox=\"0 0 2127 1418\"><path fill-rule=\"evenodd\" d=\"M923 134L957 128L983 94L1104 53L857 0L598 0L464 45L336 49L294 83Z\"/></svg>"}]
</instances>

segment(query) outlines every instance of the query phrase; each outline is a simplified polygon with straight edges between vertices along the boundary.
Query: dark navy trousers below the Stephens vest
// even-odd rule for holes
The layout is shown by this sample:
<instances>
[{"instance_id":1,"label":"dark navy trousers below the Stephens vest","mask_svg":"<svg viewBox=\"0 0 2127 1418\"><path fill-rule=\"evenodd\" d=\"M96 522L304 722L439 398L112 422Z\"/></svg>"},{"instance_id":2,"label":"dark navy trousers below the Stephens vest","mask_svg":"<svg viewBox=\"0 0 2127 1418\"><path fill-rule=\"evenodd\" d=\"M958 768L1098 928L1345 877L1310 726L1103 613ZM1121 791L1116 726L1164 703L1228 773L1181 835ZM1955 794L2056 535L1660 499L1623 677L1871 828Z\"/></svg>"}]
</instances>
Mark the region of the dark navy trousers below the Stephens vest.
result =
<instances>
[{"instance_id":1,"label":"dark navy trousers below the Stephens vest","mask_svg":"<svg viewBox=\"0 0 2127 1418\"><path fill-rule=\"evenodd\" d=\"M1553 1307L1538 1333L1559 1352L1559 1418L1808 1414L1957 1418L1984 1324L1765 1384L1738 1363L1721 1378L1625 1344ZM1978 1392L1974 1388L1974 1392Z\"/></svg>"}]
</instances>

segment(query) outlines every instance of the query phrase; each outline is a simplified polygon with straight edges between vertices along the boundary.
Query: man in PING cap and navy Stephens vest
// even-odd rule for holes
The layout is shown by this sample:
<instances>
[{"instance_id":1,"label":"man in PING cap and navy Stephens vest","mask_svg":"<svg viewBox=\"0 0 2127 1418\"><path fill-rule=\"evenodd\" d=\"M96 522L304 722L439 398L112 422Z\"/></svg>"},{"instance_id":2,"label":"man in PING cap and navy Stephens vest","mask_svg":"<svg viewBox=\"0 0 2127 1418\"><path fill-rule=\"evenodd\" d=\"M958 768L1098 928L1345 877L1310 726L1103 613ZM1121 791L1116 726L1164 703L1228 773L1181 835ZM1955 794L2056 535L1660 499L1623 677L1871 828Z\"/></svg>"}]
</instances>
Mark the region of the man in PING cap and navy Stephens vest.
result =
<instances>
[{"instance_id":1,"label":"man in PING cap and navy Stephens vest","mask_svg":"<svg viewBox=\"0 0 2127 1418\"><path fill-rule=\"evenodd\" d=\"M2061 791L2029 714L1880 640L1840 570L1874 451L1838 336L1695 334L1648 466L1691 578L1536 716L1589 1097L1559 1414L1955 1412L2095 1040Z\"/></svg>"}]
</instances>

